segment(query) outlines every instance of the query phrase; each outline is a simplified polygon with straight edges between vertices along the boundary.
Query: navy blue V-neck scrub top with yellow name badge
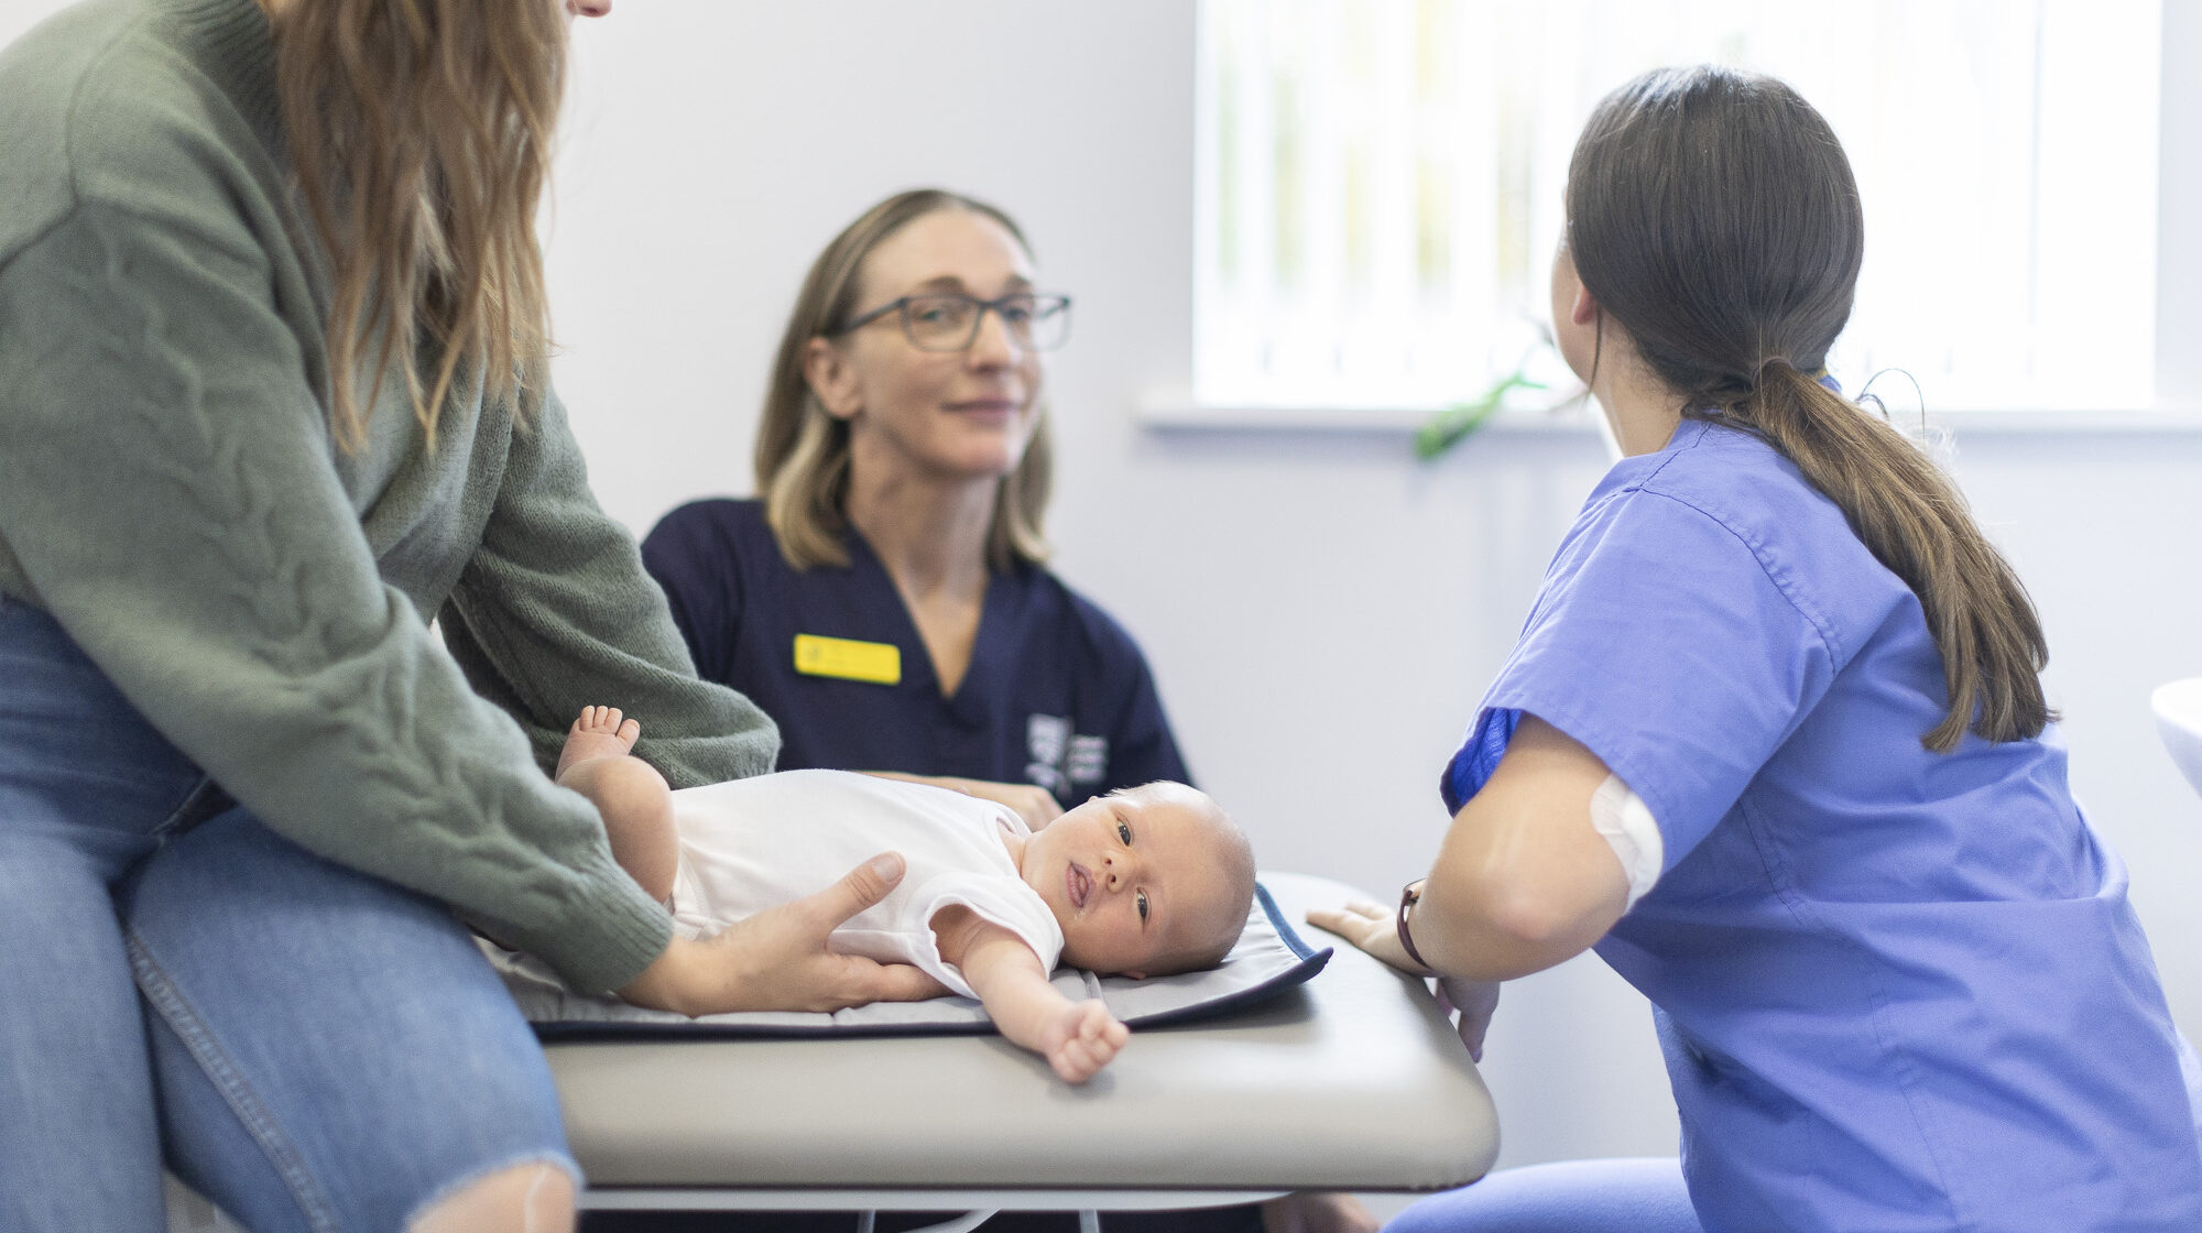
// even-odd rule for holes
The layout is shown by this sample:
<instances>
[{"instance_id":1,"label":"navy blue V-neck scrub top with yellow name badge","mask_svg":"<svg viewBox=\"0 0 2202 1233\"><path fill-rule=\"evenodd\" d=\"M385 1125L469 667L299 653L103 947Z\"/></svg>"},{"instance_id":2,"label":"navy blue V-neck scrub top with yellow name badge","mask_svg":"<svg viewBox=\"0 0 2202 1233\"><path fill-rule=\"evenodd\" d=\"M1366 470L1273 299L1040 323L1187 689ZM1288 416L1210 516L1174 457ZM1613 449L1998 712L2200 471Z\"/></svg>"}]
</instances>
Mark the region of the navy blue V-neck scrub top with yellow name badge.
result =
<instances>
[{"instance_id":1,"label":"navy blue V-neck scrub top with yellow name badge","mask_svg":"<svg viewBox=\"0 0 2202 1233\"><path fill-rule=\"evenodd\" d=\"M1024 782L1066 806L1189 779L1138 645L1053 572L989 579L971 667L942 698L894 579L854 531L848 557L797 572L755 500L685 504L643 539L696 672L780 722L782 771ZM876 680L883 647L901 661L894 683Z\"/></svg>"}]
</instances>

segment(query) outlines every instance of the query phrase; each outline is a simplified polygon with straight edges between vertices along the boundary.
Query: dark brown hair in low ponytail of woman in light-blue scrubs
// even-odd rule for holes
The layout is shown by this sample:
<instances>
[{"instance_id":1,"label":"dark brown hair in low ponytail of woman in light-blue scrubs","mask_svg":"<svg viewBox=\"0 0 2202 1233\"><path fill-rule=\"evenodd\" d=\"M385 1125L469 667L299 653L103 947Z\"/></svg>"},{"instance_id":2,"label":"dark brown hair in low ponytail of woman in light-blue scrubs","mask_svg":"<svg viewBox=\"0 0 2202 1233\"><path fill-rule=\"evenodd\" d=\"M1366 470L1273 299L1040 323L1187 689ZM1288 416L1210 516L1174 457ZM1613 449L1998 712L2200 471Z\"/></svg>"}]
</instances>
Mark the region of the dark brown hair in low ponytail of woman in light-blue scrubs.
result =
<instances>
[{"instance_id":1,"label":"dark brown hair in low ponytail of woman in light-blue scrubs","mask_svg":"<svg viewBox=\"0 0 2202 1233\"><path fill-rule=\"evenodd\" d=\"M1568 247L1680 412L1781 451L1918 597L1949 687L1922 744L2039 735L2048 643L2019 577L1918 447L1810 377L1850 319L1865 249L1828 121L1770 77L1647 73L1583 128Z\"/></svg>"}]
</instances>

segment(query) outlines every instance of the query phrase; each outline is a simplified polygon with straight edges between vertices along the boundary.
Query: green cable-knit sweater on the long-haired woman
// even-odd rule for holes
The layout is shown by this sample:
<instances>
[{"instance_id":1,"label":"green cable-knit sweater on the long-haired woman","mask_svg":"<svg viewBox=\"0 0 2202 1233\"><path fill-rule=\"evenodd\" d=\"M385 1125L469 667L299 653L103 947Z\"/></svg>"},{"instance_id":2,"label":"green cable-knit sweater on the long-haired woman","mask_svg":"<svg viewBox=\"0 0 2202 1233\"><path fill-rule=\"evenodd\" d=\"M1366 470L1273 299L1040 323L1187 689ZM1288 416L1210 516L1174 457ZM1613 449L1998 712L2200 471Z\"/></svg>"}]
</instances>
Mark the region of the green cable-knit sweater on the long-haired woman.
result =
<instances>
[{"instance_id":1,"label":"green cable-knit sweater on the long-haired woman","mask_svg":"<svg viewBox=\"0 0 2202 1233\"><path fill-rule=\"evenodd\" d=\"M392 379L335 447L282 150L253 0L95 0L0 53L0 592L273 830L617 989L665 909L539 762L588 702L676 786L777 733L696 680L555 399L454 396L429 449Z\"/></svg>"}]
</instances>

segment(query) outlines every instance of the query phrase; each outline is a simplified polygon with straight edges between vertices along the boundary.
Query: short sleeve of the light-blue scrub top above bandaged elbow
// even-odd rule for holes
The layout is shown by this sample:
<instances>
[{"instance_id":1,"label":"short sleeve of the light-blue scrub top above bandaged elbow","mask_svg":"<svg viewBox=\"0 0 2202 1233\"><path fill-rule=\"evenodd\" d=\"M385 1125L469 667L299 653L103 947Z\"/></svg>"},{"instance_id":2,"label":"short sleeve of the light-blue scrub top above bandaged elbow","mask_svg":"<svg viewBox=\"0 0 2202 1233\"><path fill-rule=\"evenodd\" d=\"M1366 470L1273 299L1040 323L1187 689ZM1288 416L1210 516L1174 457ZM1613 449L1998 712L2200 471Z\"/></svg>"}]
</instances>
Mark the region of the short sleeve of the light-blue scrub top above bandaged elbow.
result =
<instances>
[{"instance_id":1,"label":"short sleeve of the light-blue scrub top above bandaged elbow","mask_svg":"<svg viewBox=\"0 0 2202 1233\"><path fill-rule=\"evenodd\" d=\"M1665 493L1594 500L1445 773L1460 810L1522 713L1568 733L1652 810L1674 868L1825 694L1834 656L1735 531Z\"/></svg>"}]
</instances>

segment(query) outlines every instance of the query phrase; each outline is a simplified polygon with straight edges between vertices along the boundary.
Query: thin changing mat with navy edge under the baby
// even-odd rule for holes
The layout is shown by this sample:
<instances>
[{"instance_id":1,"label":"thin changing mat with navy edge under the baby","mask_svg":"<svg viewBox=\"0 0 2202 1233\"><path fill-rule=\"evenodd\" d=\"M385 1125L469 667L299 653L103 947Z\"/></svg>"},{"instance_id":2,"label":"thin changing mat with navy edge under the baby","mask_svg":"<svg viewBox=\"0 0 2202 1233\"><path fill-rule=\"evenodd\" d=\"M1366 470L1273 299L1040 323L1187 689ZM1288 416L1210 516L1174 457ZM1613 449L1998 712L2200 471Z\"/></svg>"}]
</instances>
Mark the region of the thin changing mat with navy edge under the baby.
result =
<instances>
[{"instance_id":1,"label":"thin changing mat with navy edge under the baby","mask_svg":"<svg viewBox=\"0 0 2202 1233\"><path fill-rule=\"evenodd\" d=\"M835 1013L744 1011L691 1019L672 1011L647 1011L612 997L575 993L531 956L482 942L489 962L504 978L520 1011L546 1041L581 1039L698 1039L698 1037L828 1037L828 1035L984 1035L993 1030L986 1011L969 997L929 1002L874 1002ZM1209 971L1130 980L1090 971L1055 969L1055 986L1068 997L1101 997L1134 1028L1189 1024L1266 1002L1304 984L1330 962L1330 947L1310 947L1277 909L1268 887L1255 883L1246 931L1224 962Z\"/></svg>"}]
</instances>

